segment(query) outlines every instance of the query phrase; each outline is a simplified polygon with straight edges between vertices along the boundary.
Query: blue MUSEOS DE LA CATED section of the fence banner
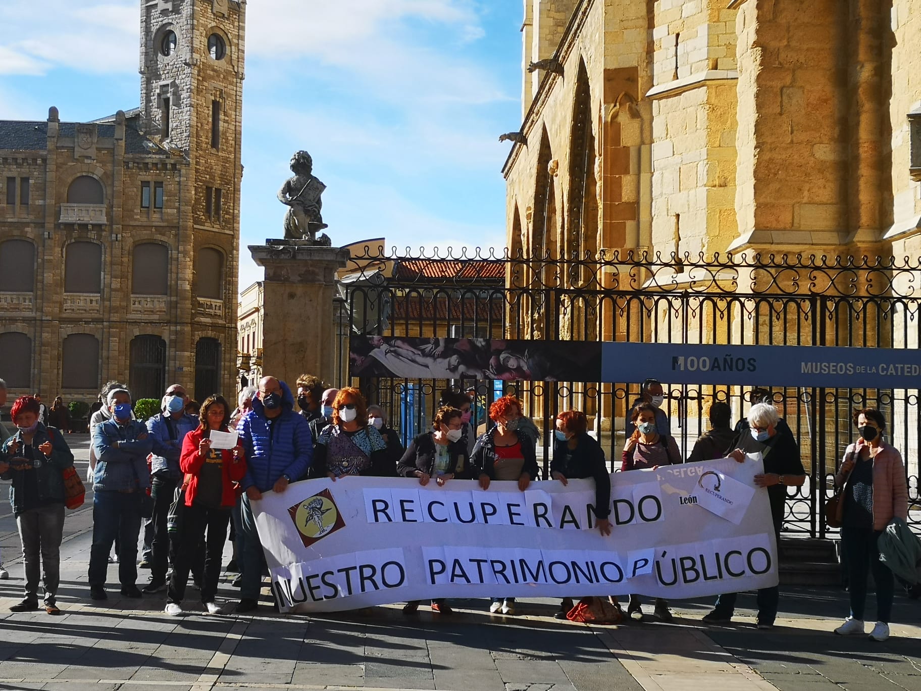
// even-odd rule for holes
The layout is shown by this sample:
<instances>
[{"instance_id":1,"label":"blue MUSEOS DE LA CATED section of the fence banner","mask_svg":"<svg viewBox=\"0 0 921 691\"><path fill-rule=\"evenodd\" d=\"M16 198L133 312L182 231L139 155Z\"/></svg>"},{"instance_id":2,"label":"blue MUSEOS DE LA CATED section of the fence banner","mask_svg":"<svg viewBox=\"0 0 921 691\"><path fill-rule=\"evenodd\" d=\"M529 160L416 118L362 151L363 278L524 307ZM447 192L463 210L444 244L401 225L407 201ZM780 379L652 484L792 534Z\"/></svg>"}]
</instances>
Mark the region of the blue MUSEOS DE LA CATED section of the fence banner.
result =
<instances>
[{"instance_id":1,"label":"blue MUSEOS DE LA CATED section of the fence banner","mask_svg":"<svg viewBox=\"0 0 921 691\"><path fill-rule=\"evenodd\" d=\"M818 345L605 343L601 381L670 384L921 388L917 349Z\"/></svg>"}]
</instances>

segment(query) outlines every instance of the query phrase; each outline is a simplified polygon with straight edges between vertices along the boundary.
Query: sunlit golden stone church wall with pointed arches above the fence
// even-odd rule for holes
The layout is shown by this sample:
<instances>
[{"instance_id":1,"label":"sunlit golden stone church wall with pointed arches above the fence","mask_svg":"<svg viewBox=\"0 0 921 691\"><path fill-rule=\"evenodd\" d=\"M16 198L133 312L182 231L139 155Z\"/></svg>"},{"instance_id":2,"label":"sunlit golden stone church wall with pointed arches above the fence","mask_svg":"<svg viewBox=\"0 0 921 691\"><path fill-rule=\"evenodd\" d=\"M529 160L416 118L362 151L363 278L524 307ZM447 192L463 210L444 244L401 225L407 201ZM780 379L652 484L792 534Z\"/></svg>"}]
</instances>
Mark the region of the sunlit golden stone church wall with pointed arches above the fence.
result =
<instances>
[{"instance_id":1,"label":"sunlit golden stone church wall with pointed arches above the fence","mask_svg":"<svg viewBox=\"0 0 921 691\"><path fill-rule=\"evenodd\" d=\"M921 254L919 0L525 0L522 34L513 252Z\"/></svg>"}]
</instances>

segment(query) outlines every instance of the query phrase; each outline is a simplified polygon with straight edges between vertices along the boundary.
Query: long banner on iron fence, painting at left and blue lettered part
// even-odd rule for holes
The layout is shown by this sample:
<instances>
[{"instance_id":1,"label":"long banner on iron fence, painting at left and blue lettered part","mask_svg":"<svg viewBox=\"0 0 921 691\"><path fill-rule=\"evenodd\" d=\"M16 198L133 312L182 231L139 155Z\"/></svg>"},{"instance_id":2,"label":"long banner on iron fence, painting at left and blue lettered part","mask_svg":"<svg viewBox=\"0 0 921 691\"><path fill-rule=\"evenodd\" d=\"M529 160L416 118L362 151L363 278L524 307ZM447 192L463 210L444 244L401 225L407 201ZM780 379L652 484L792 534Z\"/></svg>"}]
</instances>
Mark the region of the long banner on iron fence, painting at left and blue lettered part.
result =
<instances>
[{"instance_id":1,"label":"long banner on iron fence, painting at left and blue lettered part","mask_svg":"<svg viewBox=\"0 0 921 691\"><path fill-rule=\"evenodd\" d=\"M350 348L353 377L921 388L921 350L904 348L394 336Z\"/></svg>"}]
</instances>

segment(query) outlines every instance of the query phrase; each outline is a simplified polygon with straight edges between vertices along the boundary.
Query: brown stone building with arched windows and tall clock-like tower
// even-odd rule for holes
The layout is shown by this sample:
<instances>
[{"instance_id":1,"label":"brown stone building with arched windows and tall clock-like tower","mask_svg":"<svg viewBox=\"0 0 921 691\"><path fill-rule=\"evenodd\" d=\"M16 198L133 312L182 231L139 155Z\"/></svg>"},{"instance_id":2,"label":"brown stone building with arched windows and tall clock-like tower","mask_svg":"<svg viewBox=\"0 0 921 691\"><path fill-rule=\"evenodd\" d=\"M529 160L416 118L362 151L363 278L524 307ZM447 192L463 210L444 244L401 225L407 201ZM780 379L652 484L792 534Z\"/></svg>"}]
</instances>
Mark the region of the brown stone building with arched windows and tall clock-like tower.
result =
<instances>
[{"instance_id":1,"label":"brown stone building with arched windows and tall clock-like tower","mask_svg":"<svg viewBox=\"0 0 921 691\"><path fill-rule=\"evenodd\" d=\"M237 389L245 0L142 0L141 105L0 121L0 377L14 394Z\"/></svg>"}]
</instances>

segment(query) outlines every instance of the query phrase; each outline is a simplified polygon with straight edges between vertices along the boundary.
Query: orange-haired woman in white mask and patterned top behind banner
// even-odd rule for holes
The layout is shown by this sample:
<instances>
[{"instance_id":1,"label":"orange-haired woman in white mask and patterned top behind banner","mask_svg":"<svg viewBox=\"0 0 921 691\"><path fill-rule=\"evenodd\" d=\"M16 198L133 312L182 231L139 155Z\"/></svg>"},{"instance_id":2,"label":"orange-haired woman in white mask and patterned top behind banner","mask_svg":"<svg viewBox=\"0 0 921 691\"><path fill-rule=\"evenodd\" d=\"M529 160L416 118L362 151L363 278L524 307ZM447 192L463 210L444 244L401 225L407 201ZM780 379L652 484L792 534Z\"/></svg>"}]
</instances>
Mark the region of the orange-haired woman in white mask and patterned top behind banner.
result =
<instances>
[{"instance_id":1,"label":"orange-haired woman in white mask and patterned top behind banner","mask_svg":"<svg viewBox=\"0 0 921 691\"><path fill-rule=\"evenodd\" d=\"M316 474L337 480L349 475L393 477L396 463L377 427L368 424L367 404L361 392L340 389L332 402L332 425L317 439L313 454Z\"/></svg>"}]
</instances>

